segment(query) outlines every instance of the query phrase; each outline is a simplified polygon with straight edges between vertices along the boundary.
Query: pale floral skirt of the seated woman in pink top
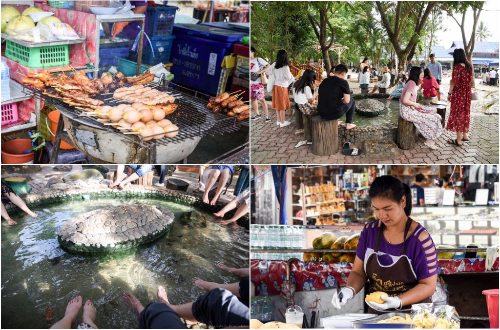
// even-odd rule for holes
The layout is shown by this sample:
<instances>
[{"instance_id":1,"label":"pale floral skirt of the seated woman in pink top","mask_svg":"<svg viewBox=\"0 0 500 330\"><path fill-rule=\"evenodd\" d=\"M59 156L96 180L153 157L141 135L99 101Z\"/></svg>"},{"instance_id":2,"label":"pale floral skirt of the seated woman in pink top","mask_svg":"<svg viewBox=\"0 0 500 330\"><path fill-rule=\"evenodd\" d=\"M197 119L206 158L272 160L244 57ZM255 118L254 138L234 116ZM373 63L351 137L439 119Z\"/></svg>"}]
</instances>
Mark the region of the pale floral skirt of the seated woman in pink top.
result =
<instances>
[{"instance_id":1,"label":"pale floral skirt of the seated woman in pink top","mask_svg":"<svg viewBox=\"0 0 500 330\"><path fill-rule=\"evenodd\" d=\"M407 121L411 121L418 132L427 140L437 139L443 132L441 116L435 113L436 108L431 105L422 105L420 111L414 110L399 103L399 115Z\"/></svg>"}]
</instances>

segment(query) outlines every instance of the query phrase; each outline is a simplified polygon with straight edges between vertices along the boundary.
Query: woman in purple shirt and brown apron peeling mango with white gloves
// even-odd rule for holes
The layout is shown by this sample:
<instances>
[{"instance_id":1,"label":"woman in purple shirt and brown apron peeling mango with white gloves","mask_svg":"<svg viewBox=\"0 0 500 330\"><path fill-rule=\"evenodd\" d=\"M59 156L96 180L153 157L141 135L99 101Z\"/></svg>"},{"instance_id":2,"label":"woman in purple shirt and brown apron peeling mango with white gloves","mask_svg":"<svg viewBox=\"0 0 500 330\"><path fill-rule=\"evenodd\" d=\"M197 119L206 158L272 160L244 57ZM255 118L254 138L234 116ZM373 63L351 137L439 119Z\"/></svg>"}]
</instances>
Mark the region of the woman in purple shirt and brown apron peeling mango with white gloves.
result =
<instances>
[{"instance_id":1,"label":"woman in purple shirt and brown apron peeling mango with white gloves","mask_svg":"<svg viewBox=\"0 0 500 330\"><path fill-rule=\"evenodd\" d=\"M437 281L437 255L429 233L411 214L411 190L399 179L383 175L368 195L376 220L361 231L347 286L333 295L337 309L359 292L366 281L369 292L381 291L383 304L368 302L368 313L409 311L412 304L430 303Z\"/></svg>"}]
</instances>

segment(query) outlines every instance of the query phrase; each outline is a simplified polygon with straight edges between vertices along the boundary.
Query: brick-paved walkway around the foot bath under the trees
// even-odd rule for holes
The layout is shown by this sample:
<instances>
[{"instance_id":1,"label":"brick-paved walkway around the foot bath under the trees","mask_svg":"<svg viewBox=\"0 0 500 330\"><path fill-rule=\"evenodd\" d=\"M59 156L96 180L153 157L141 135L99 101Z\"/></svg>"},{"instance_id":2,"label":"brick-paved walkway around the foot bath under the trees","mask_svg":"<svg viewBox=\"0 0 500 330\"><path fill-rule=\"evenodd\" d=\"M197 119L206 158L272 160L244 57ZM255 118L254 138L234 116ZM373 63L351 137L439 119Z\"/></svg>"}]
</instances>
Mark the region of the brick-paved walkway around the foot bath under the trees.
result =
<instances>
[{"instance_id":1,"label":"brick-paved walkway around the foot bath under the trees","mask_svg":"<svg viewBox=\"0 0 500 330\"><path fill-rule=\"evenodd\" d=\"M442 100L446 99L449 77L443 77L441 84ZM359 93L356 79L350 79L349 85L354 93ZM370 84L372 86L372 84ZM463 147L446 143L448 138L455 138L455 133L444 131L436 141L438 150L432 150L419 138L415 148L399 149L399 157L359 157L344 156L340 153L329 156L316 156L310 152L310 145L294 148L303 139L303 135L293 135L294 116L286 116L292 124L279 128L276 126L276 113L269 109L271 121L262 117L251 121L250 157L252 164L498 164L498 104L485 111L482 106L488 103L483 97L491 91L498 93L498 87L484 86L476 79L474 91L479 93L479 100L472 101L470 113L470 141ZM498 94L496 94L498 95ZM270 108L270 103L267 102ZM446 122L449 115L449 103L446 110ZM353 147L361 147L353 145Z\"/></svg>"}]
</instances>

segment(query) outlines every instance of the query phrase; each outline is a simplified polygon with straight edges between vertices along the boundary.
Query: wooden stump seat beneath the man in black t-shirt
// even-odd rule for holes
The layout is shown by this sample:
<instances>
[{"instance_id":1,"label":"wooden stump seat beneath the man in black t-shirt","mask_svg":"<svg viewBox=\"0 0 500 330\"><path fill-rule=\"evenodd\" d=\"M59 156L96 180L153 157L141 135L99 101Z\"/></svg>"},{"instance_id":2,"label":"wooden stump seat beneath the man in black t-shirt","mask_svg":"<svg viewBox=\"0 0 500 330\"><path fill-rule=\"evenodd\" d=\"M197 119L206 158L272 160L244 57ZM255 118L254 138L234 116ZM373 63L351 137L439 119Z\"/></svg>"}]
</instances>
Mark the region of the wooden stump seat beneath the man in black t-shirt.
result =
<instances>
[{"instance_id":1,"label":"wooden stump seat beneath the man in black t-shirt","mask_svg":"<svg viewBox=\"0 0 500 330\"><path fill-rule=\"evenodd\" d=\"M328 156L338 152L338 120L324 120L321 116L311 119L312 147L314 155Z\"/></svg>"}]
</instances>

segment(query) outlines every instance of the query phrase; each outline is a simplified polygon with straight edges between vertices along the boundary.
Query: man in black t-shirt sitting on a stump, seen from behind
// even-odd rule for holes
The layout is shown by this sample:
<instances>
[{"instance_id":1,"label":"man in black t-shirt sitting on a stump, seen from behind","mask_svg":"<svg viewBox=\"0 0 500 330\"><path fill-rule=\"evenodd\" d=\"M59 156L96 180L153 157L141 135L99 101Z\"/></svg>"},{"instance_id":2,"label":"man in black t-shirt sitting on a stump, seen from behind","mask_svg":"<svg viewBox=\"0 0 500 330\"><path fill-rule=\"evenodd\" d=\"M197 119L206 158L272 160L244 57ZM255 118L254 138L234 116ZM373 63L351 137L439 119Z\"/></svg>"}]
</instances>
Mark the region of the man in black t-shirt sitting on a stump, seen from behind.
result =
<instances>
[{"instance_id":1,"label":"man in black t-shirt sitting on a stump, seen from behind","mask_svg":"<svg viewBox=\"0 0 500 330\"><path fill-rule=\"evenodd\" d=\"M354 100L350 97L349 83L345 80L347 67L343 64L335 66L333 76L321 82L318 89L317 112L321 119L339 119L345 115L345 129L356 127L352 123Z\"/></svg>"}]
</instances>

